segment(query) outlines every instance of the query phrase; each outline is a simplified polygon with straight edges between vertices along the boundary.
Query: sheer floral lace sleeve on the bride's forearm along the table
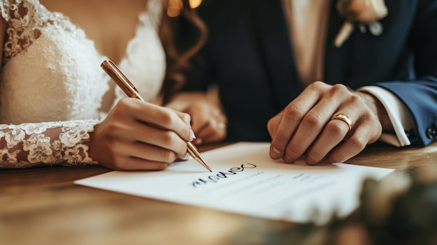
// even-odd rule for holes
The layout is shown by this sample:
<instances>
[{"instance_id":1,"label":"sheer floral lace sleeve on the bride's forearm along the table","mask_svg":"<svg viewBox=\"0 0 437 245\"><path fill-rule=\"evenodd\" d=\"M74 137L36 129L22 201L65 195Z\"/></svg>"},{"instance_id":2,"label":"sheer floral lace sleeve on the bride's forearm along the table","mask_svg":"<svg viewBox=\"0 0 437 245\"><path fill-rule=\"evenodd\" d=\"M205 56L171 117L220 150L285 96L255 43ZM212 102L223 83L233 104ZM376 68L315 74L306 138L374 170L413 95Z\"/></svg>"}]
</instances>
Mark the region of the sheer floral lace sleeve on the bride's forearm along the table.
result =
<instances>
[{"instance_id":1,"label":"sheer floral lace sleeve on the bride's forearm along the table","mask_svg":"<svg viewBox=\"0 0 437 245\"><path fill-rule=\"evenodd\" d=\"M88 156L96 120L0 124L0 168L41 165L95 165Z\"/></svg>"}]
</instances>

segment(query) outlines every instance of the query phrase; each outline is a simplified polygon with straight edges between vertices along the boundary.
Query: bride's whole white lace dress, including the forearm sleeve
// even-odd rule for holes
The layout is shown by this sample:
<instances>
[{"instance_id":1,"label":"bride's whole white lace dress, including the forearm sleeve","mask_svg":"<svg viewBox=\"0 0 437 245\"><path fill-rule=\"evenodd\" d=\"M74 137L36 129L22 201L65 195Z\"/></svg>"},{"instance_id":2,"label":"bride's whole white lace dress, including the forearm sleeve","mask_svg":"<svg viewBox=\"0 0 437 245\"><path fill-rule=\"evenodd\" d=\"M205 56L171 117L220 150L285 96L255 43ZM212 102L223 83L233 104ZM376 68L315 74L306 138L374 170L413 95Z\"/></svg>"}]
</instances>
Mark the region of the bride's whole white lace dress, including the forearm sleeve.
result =
<instances>
[{"instance_id":1,"label":"bride's whole white lace dress, including the forearm sleeve","mask_svg":"<svg viewBox=\"0 0 437 245\"><path fill-rule=\"evenodd\" d=\"M157 34L161 8L161 0L148 1L126 56L117 64L149 101L156 98L165 74ZM97 164L84 142L126 96L110 86L113 81L100 67L108 58L68 17L48 11L38 0L0 0L0 11L7 22L0 74L0 145L5 145L0 168ZM107 93L115 99L104 101Z\"/></svg>"}]
</instances>

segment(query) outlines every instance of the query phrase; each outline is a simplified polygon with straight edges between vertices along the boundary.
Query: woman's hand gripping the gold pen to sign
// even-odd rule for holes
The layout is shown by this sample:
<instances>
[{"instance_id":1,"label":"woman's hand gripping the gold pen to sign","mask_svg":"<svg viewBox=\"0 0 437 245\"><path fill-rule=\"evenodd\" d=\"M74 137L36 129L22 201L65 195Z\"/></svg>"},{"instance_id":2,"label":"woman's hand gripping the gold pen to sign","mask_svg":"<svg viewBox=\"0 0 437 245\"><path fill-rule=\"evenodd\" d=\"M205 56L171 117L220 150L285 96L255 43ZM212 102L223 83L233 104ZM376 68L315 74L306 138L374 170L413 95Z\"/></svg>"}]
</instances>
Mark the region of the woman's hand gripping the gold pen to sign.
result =
<instances>
[{"instance_id":1,"label":"woman's hand gripping the gold pen to sign","mask_svg":"<svg viewBox=\"0 0 437 245\"><path fill-rule=\"evenodd\" d=\"M188 114L124 98L91 134L89 156L115 170L163 170L191 140Z\"/></svg>"}]
</instances>

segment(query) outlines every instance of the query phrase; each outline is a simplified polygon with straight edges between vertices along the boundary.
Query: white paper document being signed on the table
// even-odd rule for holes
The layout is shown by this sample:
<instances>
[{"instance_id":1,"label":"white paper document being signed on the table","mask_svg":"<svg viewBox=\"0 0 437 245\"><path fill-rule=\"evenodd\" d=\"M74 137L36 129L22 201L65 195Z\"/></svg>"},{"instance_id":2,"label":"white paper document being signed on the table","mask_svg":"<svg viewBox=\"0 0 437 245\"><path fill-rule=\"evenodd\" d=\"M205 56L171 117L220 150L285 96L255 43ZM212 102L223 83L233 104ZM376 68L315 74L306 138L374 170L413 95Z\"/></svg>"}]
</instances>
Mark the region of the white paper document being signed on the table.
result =
<instances>
[{"instance_id":1,"label":"white paper document being signed on the table","mask_svg":"<svg viewBox=\"0 0 437 245\"><path fill-rule=\"evenodd\" d=\"M269 158L269 143L239 142L202 153L212 172L190 158L156 172L113 171L75 184L248 216L326 223L347 216L366 178L392 169L346 163L309 166Z\"/></svg>"}]
</instances>

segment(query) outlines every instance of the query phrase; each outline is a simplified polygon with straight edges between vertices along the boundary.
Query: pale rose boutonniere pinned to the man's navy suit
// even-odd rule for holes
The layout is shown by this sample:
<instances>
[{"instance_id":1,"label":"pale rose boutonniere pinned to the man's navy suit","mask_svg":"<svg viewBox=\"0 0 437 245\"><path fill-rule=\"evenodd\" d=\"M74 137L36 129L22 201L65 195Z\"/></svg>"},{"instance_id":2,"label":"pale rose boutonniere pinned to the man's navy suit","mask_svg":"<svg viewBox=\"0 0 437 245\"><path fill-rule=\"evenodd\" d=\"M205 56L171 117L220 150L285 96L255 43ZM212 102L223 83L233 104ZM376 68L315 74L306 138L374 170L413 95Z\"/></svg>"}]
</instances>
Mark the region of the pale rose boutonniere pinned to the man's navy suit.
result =
<instances>
[{"instance_id":1,"label":"pale rose boutonniere pinned to the man's navy suit","mask_svg":"<svg viewBox=\"0 0 437 245\"><path fill-rule=\"evenodd\" d=\"M374 36L383 33L383 25L378 20L387 16L387 7L384 0L338 0L336 8L339 14L346 19L339 34L335 37L334 45L341 47L355 28L362 33L366 26Z\"/></svg>"}]
</instances>

